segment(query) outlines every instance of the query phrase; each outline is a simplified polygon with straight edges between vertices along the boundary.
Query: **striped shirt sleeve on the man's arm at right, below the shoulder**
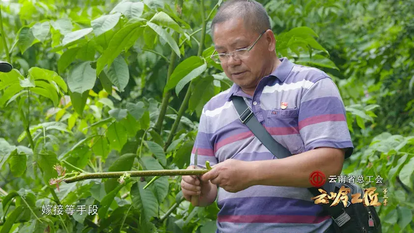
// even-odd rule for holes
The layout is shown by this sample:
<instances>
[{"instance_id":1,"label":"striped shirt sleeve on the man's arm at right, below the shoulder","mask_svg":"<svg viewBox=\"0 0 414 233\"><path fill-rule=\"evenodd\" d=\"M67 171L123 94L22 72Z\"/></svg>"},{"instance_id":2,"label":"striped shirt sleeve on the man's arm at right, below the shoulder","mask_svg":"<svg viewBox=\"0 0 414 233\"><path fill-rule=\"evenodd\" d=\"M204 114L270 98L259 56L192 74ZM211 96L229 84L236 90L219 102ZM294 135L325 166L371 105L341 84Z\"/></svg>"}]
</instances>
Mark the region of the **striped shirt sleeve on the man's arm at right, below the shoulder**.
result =
<instances>
[{"instance_id":1,"label":"striped shirt sleeve on the man's arm at right, below the shoulder","mask_svg":"<svg viewBox=\"0 0 414 233\"><path fill-rule=\"evenodd\" d=\"M322 78L305 89L298 121L305 151L317 147L345 148L345 158L353 153L345 106L331 78Z\"/></svg>"}]
</instances>

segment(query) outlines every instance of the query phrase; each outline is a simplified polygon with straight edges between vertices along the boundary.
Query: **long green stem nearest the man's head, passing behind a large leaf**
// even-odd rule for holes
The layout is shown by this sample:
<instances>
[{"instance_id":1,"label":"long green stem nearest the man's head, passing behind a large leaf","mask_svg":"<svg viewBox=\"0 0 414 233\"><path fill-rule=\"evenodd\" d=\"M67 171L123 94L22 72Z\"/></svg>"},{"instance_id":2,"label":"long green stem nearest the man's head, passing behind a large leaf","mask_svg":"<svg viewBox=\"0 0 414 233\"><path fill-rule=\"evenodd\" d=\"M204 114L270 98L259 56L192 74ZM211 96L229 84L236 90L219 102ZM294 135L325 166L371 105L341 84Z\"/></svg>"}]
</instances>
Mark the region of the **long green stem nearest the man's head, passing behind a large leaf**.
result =
<instances>
[{"instance_id":1,"label":"long green stem nearest the man's head, passing behind a large leaf","mask_svg":"<svg viewBox=\"0 0 414 233\"><path fill-rule=\"evenodd\" d=\"M197 53L198 57L200 57L203 54L204 39L205 39L206 27L207 27L207 21L206 21L205 13L204 13L204 0L200 1L200 5L201 5L200 8L201 8L202 28L201 28L200 46L198 47L198 53ZM180 123L181 117L183 116L184 112L187 109L188 102L190 101L190 97L191 97L192 84L193 84L193 81L190 82L190 85L187 88L186 96L184 97L184 100L180 106L180 110L178 111L177 118L172 124L172 128L171 128L170 134L168 135L168 139L167 139L166 145L164 146L164 150L166 150L168 146L171 144L172 139L174 138L175 131L177 130L178 125Z\"/></svg>"}]
</instances>

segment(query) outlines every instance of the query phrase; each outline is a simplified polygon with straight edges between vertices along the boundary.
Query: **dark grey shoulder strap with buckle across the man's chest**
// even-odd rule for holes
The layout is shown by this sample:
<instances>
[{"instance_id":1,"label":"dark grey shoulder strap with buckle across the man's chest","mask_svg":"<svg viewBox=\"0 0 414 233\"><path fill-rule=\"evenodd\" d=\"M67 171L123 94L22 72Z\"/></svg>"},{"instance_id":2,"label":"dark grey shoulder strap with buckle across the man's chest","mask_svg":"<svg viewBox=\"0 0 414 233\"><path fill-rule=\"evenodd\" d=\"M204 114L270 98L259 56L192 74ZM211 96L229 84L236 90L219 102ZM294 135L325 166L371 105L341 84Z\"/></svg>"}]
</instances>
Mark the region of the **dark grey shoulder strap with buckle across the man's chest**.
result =
<instances>
[{"instance_id":1,"label":"dark grey shoulder strap with buckle across the man's chest","mask_svg":"<svg viewBox=\"0 0 414 233\"><path fill-rule=\"evenodd\" d=\"M257 120L257 118L254 116L254 114L251 112L251 110L248 108L245 100L241 96L232 96L234 107L236 108L239 119L244 123L250 130L253 132L253 134L256 136L257 139L262 142L266 148L272 152L278 159L286 158L292 155L290 151L280 145L273 137L270 135L270 133L263 127L263 125ZM318 188L311 187L307 188L310 193L314 196L321 195L321 193L318 191ZM326 190L326 189L325 189ZM328 191L329 193L329 191ZM342 208L336 208L335 205L330 208L330 204L332 204L332 200L329 200L329 204L322 204L325 211L328 211L329 215L332 216L332 218L336 221L345 221L346 219L342 218L342 213L345 212L345 210L342 211ZM338 218L340 217L340 218Z\"/></svg>"}]
</instances>

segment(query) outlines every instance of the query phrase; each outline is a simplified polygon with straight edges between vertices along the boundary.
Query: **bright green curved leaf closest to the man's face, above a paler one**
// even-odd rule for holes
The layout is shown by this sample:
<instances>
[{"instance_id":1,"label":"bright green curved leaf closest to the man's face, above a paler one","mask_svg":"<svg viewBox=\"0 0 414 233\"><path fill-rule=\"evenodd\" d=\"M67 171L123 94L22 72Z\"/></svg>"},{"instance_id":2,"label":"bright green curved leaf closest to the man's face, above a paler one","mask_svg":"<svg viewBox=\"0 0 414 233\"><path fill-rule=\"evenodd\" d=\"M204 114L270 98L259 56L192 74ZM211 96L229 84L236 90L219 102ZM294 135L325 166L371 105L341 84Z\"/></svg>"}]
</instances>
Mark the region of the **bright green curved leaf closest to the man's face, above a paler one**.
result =
<instances>
[{"instance_id":1,"label":"bright green curved leaf closest to the man's face, above a paler one","mask_svg":"<svg viewBox=\"0 0 414 233\"><path fill-rule=\"evenodd\" d=\"M203 64L205 64L204 60L196 56L192 56L183 60L180 64L177 65L177 67L175 67L174 71L172 72L171 77L166 84L166 87L164 87L164 92L175 87L184 77L188 76L193 70L202 67Z\"/></svg>"}]
</instances>

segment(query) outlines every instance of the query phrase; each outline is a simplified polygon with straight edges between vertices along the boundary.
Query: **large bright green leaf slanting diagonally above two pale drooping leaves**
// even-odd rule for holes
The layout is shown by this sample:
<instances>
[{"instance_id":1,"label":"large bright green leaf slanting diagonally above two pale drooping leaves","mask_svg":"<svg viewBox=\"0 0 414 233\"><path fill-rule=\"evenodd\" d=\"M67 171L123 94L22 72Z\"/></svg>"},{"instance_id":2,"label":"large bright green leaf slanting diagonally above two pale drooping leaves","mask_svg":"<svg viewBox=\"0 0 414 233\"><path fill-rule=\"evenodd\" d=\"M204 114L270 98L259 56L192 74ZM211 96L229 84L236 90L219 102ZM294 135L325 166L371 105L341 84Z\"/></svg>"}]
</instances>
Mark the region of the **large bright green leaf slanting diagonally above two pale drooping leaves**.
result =
<instances>
[{"instance_id":1,"label":"large bright green leaf slanting diagonally above two pale drooping leaves","mask_svg":"<svg viewBox=\"0 0 414 233\"><path fill-rule=\"evenodd\" d=\"M118 30L110 40L108 48L104 51L102 56L98 58L96 63L96 74L100 74L104 67L108 64L112 64L113 60L119 56L119 54L125 49L129 49L134 45L135 41L141 35L140 31L143 30L140 26L142 22L130 24L120 30Z\"/></svg>"}]
</instances>

